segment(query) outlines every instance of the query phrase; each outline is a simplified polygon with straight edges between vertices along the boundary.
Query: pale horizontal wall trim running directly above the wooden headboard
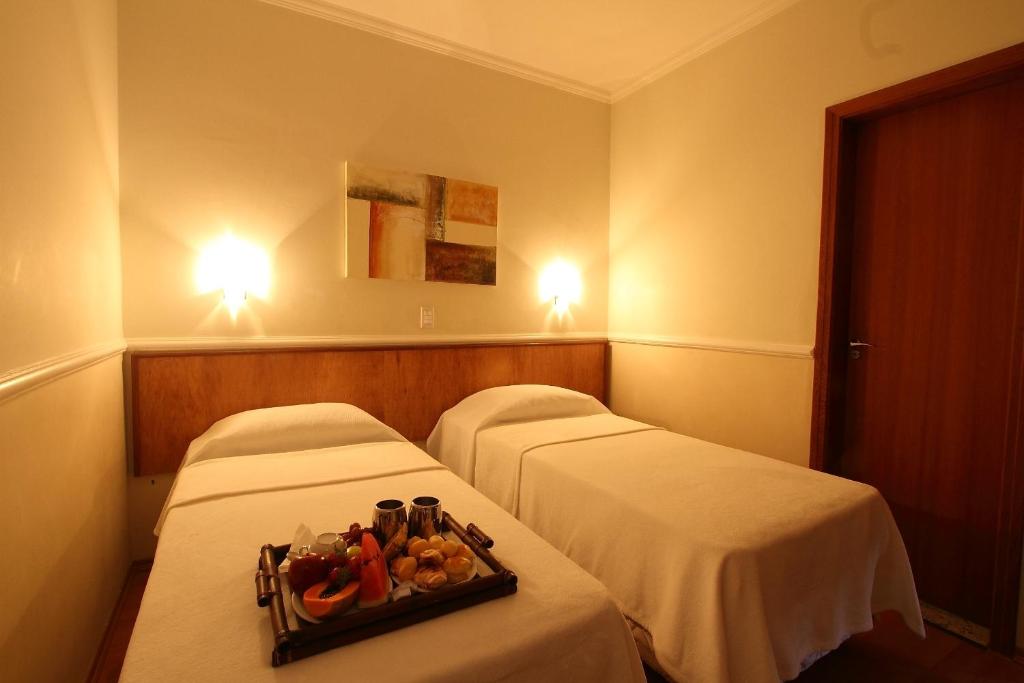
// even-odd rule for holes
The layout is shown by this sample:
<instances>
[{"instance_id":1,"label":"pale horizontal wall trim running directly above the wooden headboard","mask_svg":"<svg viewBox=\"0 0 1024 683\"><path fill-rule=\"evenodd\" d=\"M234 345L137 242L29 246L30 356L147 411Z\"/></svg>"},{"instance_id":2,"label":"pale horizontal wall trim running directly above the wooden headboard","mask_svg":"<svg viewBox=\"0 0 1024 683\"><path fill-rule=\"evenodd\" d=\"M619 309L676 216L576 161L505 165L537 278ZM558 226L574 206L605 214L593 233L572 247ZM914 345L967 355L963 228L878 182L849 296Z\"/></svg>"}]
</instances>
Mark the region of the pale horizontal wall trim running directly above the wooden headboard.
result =
<instances>
[{"instance_id":1,"label":"pale horizontal wall trim running directly above the wooden headboard","mask_svg":"<svg viewBox=\"0 0 1024 683\"><path fill-rule=\"evenodd\" d=\"M493 335L338 335L330 337L135 337L128 351L247 351L345 346L439 346L444 344L523 344L606 341L603 332Z\"/></svg>"}]
</instances>

